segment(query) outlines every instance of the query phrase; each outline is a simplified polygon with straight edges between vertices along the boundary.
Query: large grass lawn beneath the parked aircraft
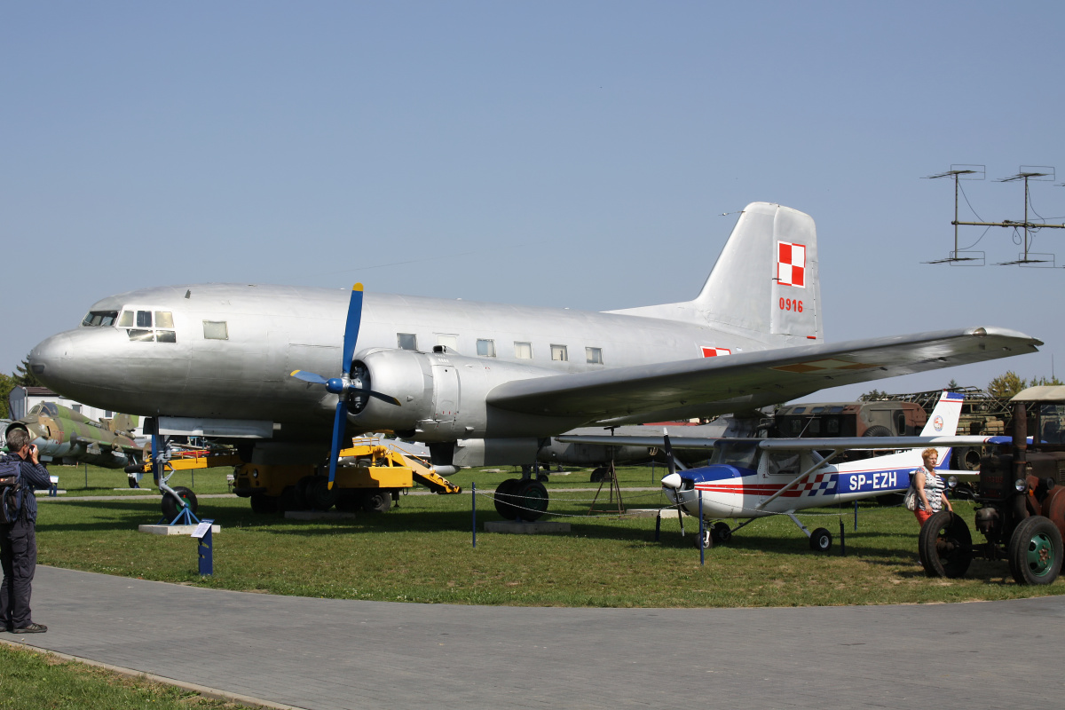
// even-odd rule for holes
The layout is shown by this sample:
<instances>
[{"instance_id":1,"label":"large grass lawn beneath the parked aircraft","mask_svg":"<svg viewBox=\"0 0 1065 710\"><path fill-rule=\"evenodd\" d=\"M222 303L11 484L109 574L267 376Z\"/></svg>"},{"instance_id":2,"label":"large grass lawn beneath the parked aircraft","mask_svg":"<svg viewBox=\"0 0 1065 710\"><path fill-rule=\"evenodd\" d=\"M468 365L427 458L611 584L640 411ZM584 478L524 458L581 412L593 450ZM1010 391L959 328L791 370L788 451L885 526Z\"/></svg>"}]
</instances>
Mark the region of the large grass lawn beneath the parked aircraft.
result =
<instances>
[{"instance_id":1,"label":"large grass lawn beneath the parked aircraft","mask_svg":"<svg viewBox=\"0 0 1065 710\"><path fill-rule=\"evenodd\" d=\"M197 472L197 493L224 492L228 469ZM403 496L386 514L346 521L290 521L256 515L247 500L210 498L200 516L223 526L214 538L213 577L197 574L195 541L136 532L160 516L159 498L49 501L37 523L39 561L75 569L194 583L239 591L317 597L447 604L592 607L758 607L899 604L1005 599L1065 593L1019 587L1004 562L974 561L964 579L929 579L917 560L917 523L901 508L863 503L803 515L810 529L828 528L833 552L809 551L785 517L753 523L700 565L693 518L679 534L675 514L654 542L653 517L588 517L587 470L553 475L545 519L567 521L570 534L507 535L478 531L471 544L470 485L477 482L478 527L499 519L491 492L507 472L460 472L464 492ZM657 472L656 476L660 476ZM61 474L62 476L62 474ZM124 477L125 475L118 474ZM185 484L179 474L171 484ZM620 469L623 486L653 485L645 467ZM91 483L93 483L91 478ZM69 484L64 484L76 495ZM96 491L102 491L100 485ZM629 508L662 505L659 491L625 494ZM971 526L971 505L955 508ZM838 556L839 524L847 557Z\"/></svg>"}]
</instances>

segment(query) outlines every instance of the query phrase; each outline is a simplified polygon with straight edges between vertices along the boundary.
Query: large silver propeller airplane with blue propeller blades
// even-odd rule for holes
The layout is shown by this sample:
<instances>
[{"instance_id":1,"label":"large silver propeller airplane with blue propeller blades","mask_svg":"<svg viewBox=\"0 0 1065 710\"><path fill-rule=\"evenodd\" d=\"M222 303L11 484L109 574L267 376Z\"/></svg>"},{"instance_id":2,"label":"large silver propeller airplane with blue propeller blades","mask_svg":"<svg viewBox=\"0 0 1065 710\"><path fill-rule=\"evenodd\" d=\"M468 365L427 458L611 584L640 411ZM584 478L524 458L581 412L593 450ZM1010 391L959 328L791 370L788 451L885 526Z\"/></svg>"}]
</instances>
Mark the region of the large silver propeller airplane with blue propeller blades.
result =
<instances>
[{"instance_id":1,"label":"large silver propeller airplane with blue propeller blades","mask_svg":"<svg viewBox=\"0 0 1065 710\"><path fill-rule=\"evenodd\" d=\"M358 284L144 288L97 301L29 364L68 397L154 417L161 434L239 442L261 472L321 464L331 439L331 481L340 443L361 432L424 442L446 475L532 463L578 426L748 411L1042 345L993 327L824 343L814 220L765 202L744 209L690 301L597 313L364 300ZM539 481L522 491L546 501Z\"/></svg>"}]
</instances>

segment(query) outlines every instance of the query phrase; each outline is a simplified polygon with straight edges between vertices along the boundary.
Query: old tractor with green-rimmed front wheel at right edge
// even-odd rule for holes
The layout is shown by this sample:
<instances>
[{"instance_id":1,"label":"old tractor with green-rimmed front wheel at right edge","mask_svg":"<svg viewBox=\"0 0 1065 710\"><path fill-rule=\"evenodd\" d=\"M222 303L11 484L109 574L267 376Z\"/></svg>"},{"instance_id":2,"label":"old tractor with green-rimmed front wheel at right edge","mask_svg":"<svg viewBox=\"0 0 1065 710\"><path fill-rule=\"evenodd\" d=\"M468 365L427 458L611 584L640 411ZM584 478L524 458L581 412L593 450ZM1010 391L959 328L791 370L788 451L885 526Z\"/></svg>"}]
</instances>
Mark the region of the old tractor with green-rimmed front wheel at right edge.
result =
<instances>
[{"instance_id":1,"label":"old tractor with green-rimmed front wheel at right edge","mask_svg":"<svg viewBox=\"0 0 1065 710\"><path fill-rule=\"evenodd\" d=\"M973 543L960 515L940 511L921 528L930 577L962 577L973 557L1006 560L1018 584L1050 584L1065 554L1065 386L1029 387L1011 400L1013 439L980 461ZM1032 432L1029 443L1029 431Z\"/></svg>"}]
</instances>

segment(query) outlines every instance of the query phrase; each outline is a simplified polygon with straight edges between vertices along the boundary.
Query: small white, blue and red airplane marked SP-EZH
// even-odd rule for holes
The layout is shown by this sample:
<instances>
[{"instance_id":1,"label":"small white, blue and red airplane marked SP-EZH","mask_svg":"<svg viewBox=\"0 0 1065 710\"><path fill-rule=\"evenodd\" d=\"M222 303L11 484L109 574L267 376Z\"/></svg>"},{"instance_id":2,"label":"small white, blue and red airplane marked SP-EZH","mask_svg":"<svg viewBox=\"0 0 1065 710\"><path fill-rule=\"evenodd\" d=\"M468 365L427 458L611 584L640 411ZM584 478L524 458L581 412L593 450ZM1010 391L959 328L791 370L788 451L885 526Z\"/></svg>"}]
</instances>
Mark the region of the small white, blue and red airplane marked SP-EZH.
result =
<instances>
[{"instance_id":1,"label":"small white, blue and red airplane marked SP-EZH","mask_svg":"<svg viewBox=\"0 0 1065 710\"><path fill-rule=\"evenodd\" d=\"M938 450L936 469L946 472L952 446L980 446L1009 441L1005 436L954 435L963 398L964 395L944 392L919 436L690 439L667 434L657 437L615 437L613 441L618 443L618 439L623 439L625 444L630 445L663 446L670 473L662 478L662 490L678 510L683 509L697 517L702 512L706 525L701 540L697 542L704 547L725 542L736 530L759 517L787 515L809 538L810 549L825 551L832 547L832 534L824 528L810 532L796 516L797 511L904 492L910 486L911 472L923 465L921 451L927 448ZM577 437L558 439L571 441ZM585 443L597 443L591 439L600 437L578 439ZM672 448L707 448L712 452L708 465L676 470ZM843 451L854 449L896 452L861 461L832 463ZM950 473L956 476L977 475L971 472ZM747 521L733 528L720 522L722 518Z\"/></svg>"}]
</instances>

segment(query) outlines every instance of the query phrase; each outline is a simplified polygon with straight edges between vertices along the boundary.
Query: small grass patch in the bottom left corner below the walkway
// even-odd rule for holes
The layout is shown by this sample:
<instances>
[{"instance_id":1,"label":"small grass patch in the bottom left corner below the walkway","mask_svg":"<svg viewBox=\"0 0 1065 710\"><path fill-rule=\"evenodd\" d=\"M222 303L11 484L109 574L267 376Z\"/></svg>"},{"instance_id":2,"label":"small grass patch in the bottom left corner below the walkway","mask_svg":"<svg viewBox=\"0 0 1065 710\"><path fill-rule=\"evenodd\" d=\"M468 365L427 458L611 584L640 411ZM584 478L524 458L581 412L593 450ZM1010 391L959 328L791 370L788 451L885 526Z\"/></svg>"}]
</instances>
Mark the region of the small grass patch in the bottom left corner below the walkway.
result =
<instances>
[{"instance_id":1,"label":"small grass patch in the bottom left corner below the walkway","mask_svg":"<svg viewBox=\"0 0 1065 710\"><path fill-rule=\"evenodd\" d=\"M146 678L65 661L52 654L0 644L0 710L243 710L246 707Z\"/></svg>"}]
</instances>

